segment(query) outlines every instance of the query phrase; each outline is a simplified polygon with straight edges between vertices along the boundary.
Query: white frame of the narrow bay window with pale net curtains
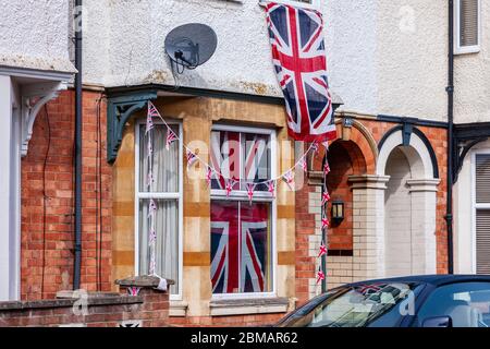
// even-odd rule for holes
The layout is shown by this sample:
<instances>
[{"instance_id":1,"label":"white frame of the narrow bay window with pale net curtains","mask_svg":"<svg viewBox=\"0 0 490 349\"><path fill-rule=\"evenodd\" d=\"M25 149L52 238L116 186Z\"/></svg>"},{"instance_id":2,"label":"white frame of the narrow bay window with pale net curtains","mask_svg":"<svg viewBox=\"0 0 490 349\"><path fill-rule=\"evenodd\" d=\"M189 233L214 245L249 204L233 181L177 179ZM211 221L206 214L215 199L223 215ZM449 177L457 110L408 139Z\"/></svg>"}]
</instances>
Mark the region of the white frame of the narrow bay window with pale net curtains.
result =
<instances>
[{"instance_id":1,"label":"white frame of the narrow bay window with pale net curtains","mask_svg":"<svg viewBox=\"0 0 490 349\"><path fill-rule=\"evenodd\" d=\"M183 140L183 127L182 122L176 120L166 120L169 125L179 127L179 139ZM161 121L154 121L156 125L163 124ZM179 201L179 293L170 294L170 301L182 301L183 300L183 270L184 270L184 145L179 141L179 193L145 193L139 192L139 147L140 147L140 127L146 124L146 120L138 120L135 122L135 215L134 215L134 226L135 226L135 255L134 255L134 270L135 275L139 275L139 200L142 198L155 198L155 200L177 200ZM166 275L162 275L166 277Z\"/></svg>"}]
</instances>

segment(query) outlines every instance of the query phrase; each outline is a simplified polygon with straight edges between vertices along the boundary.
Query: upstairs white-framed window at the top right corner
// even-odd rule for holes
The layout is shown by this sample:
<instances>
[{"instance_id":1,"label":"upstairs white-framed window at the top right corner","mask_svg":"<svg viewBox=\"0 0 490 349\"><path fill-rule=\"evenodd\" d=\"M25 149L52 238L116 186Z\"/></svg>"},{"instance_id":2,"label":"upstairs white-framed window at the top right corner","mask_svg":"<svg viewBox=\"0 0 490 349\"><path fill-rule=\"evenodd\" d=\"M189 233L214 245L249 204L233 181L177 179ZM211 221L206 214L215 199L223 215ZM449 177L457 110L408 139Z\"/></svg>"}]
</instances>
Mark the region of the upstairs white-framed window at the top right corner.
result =
<instances>
[{"instance_id":1,"label":"upstairs white-framed window at the top right corner","mask_svg":"<svg viewBox=\"0 0 490 349\"><path fill-rule=\"evenodd\" d=\"M455 2L455 53L480 50L481 0L456 0Z\"/></svg>"}]
</instances>

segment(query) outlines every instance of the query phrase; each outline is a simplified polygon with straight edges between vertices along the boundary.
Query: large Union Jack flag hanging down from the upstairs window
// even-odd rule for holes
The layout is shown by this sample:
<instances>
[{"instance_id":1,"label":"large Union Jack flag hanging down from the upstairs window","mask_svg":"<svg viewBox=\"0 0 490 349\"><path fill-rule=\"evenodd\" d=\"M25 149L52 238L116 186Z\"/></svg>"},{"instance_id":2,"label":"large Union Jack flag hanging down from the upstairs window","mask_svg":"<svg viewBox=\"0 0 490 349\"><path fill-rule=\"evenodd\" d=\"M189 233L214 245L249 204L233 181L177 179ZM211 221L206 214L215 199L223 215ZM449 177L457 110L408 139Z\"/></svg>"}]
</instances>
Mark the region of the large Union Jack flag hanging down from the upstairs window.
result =
<instances>
[{"instance_id":1,"label":"large Union Jack flag hanging down from the upstairs window","mask_svg":"<svg viewBox=\"0 0 490 349\"><path fill-rule=\"evenodd\" d=\"M305 142L335 139L321 13L275 2L266 11L290 136Z\"/></svg>"}]
</instances>

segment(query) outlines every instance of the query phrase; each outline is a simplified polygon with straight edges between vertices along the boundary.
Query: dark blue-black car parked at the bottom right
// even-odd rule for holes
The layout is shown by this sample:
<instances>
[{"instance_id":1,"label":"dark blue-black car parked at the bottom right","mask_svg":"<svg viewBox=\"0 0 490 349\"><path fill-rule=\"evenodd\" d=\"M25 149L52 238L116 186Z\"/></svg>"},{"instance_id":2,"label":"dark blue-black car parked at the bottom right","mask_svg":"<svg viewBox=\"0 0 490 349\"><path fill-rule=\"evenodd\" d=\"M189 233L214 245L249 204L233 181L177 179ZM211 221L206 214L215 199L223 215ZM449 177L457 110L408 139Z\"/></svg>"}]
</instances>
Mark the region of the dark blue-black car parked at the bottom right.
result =
<instances>
[{"instance_id":1,"label":"dark blue-black car parked at the bottom right","mask_svg":"<svg viewBox=\"0 0 490 349\"><path fill-rule=\"evenodd\" d=\"M411 276L319 296L278 327L489 327L490 276Z\"/></svg>"}]
</instances>

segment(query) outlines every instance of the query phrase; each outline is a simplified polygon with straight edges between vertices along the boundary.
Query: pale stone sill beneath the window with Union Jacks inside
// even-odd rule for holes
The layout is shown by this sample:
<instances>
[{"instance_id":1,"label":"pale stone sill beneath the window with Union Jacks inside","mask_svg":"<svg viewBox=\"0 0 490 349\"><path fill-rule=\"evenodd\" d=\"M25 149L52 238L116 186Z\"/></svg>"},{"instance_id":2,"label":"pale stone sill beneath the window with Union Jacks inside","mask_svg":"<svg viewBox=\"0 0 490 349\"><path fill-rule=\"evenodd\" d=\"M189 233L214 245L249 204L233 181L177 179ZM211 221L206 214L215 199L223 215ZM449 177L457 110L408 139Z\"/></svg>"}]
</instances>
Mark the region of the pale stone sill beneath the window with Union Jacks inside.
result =
<instances>
[{"instance_id":1,"label":"pale stone sill beneath the window with Union Jacks inside","mask_svg":"<svg viewBox=\"0 0 490 349\"><path fill-rule=\"evenodd\" d=\"M287 298L212 300L209 303L211 316L286 313L289 306Z\"/></svg>"}]
</instances>

